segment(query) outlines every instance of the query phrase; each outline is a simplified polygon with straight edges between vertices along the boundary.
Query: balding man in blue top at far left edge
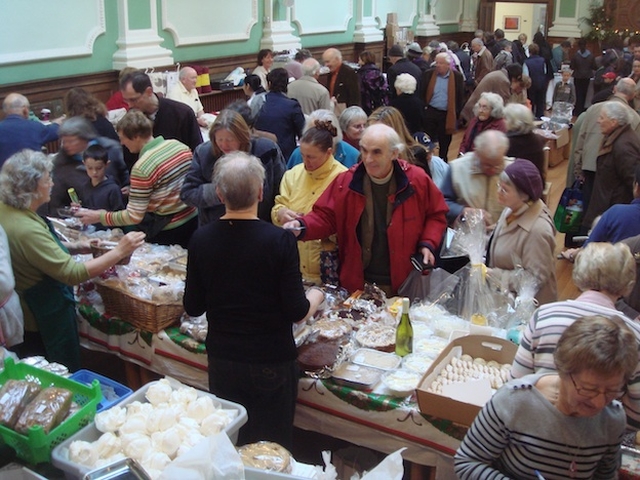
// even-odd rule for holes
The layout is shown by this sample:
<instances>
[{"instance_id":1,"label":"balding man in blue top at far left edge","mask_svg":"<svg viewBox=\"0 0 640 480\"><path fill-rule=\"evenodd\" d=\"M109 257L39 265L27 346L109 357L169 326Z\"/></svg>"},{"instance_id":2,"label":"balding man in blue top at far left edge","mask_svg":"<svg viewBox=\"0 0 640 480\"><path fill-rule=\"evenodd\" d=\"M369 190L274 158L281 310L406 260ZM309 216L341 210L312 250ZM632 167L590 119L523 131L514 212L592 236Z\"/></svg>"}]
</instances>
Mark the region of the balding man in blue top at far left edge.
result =
<instances>
[{"instance_id":1,"label":"balding man in blue top at far left edge","mask_svg":"<svg viewBox=\"0 0 640 480\"><path fill-rule=\"evenodd\" d=\"M7 95L2 110L6 118L0 122L0 167L20 150L40 151L45 144L58 139L58 127L64 117L53 120L50 125L29 120L29 100L24 95Z\"/></svg>"}]
</instances>

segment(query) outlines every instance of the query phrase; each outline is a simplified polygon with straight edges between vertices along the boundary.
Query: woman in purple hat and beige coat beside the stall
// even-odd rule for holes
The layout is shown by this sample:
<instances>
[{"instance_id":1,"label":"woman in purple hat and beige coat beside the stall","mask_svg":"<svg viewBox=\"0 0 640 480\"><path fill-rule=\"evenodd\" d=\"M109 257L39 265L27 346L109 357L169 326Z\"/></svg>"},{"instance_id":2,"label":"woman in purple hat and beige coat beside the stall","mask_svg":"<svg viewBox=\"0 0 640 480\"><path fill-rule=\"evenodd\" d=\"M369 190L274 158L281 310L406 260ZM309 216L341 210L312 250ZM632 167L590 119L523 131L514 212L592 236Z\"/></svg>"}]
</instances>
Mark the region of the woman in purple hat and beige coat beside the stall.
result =
<instances>
[{"instance_id":1,"label":"woman in purple hat and beige coat beside the stall","mask_svg":"<svg viewBox=\"0 0 640 480\"><path fill-rule=\"evenodd\" d=\"M540 304L557 300L556 248L553 215L541 200L540 171L529 160L516 159L500 174L500 215L487 251L487 274L498 285L517 291L519 268L531 273L538 284Z\"/></svg>"}]
</instances>

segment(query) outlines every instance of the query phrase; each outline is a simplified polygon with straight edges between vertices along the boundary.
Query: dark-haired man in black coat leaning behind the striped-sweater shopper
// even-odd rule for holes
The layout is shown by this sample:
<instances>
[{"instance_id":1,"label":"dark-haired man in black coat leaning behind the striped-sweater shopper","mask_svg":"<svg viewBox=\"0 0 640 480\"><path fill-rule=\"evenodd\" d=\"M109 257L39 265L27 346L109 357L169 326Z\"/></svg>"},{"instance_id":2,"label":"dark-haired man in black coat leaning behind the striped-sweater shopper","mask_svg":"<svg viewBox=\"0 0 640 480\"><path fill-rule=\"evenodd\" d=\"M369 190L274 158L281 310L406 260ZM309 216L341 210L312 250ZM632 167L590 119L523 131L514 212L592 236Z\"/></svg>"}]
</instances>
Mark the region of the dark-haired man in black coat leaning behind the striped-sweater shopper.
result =
<instances>
[{"instance_id":1,"label":"dark-haired man in black coat leaning behind the striped-sweater shopper","mask_svg":"<svg viewBox=\"0 0 640 480\"><path fill-rule=\"evenodd\" d=\"M137 108L153 121L154 137L179 140L191 151L202 143L202 132L193 109L184 103L158 97L146 73L135 71L122 77L120 91L130 108ZM138 154L131 153L125 146L122 150L124 161L131 170Z\"/></svg>"}]
</instances>

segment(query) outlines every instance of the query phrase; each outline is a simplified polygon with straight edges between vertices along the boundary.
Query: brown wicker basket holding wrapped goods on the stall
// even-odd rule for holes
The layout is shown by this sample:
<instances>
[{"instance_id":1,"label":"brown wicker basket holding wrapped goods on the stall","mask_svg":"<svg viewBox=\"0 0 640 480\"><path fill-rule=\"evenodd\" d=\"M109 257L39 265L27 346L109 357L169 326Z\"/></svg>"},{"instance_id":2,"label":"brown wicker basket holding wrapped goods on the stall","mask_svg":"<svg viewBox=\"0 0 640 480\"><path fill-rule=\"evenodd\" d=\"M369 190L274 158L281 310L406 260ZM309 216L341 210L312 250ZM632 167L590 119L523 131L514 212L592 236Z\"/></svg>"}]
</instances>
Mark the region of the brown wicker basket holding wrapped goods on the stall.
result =
<instances>
[{"instance_id":1,"label":"brown wicker basket holding wrapped goods on the stall","mask_svg":"<svg viewBox=\"0 0 640 480\"><path fill-rule=\"evenodd\" d=\"M160 303L96 283L107 313L120 317L140 330L158 333L176 323L184 313L182 303Z\"/></svg>"}]
</instances>

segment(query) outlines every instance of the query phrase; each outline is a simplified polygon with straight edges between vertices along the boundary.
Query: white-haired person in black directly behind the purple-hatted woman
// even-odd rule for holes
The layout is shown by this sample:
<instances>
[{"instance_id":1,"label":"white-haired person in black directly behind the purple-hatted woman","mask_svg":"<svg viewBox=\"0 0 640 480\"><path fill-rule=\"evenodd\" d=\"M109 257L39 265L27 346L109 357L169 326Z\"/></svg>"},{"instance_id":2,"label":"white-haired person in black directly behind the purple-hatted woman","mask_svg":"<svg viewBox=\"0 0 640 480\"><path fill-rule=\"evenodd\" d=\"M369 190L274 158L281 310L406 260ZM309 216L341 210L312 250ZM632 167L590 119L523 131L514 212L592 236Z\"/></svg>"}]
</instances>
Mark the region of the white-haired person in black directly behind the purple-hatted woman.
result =
<instances>
[{"instance_id":1,"label":"white-haired person in black directly behind the purple-hatted woman","mask_svg":"<svg viewBox=\"0 0 640 480\"><path fill-rule=\"evenodd\" d=\"M509 150L507 157L525 158L540 171L546 180L544 165L545 140L534 132L533 112L520 103L509 103L504 107L504 121L507 126Z\"/></svg>"}]
</instances>

